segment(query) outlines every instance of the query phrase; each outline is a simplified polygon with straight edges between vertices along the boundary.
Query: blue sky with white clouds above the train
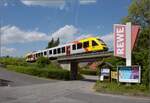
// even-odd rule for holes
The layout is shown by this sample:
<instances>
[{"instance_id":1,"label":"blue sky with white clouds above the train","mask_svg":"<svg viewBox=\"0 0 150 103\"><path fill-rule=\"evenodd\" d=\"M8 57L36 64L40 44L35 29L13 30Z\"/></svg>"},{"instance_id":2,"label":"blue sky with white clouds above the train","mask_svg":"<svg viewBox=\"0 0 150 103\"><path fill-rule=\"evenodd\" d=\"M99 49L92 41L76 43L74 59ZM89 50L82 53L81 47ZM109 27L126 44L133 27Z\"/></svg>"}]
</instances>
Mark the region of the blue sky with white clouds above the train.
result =
<instances>
[{"instance_id":1,"label":"blue sky with white clouds above the train","mask_svg":"<svg viewBox=\"0 0 150 103\"><path fill-rule=\"evenodd\" d=\"M0 0L2 56L24 56L45 49L52 38L60 44L94 36L113 50L113 24L128 14L131 0Z\"/></svg>"}]
</instances>

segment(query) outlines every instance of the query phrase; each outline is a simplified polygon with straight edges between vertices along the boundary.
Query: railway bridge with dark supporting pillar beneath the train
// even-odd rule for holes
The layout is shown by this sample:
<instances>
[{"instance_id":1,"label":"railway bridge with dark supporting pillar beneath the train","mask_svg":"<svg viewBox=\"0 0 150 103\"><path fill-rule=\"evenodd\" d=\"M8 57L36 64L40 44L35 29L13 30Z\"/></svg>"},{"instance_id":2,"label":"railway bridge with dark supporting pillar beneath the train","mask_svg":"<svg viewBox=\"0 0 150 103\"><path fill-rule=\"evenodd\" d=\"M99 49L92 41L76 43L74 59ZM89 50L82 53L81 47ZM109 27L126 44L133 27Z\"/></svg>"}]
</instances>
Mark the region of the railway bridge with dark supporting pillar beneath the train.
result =
<instances>
[{"instance_id":1,"label":"railway bridge with dark supporting pillar beneath the train","mask_svg":"<svg viewBox=\"0 0 150 103\"><path fill-rule=\"evenodd\" d=\"M64 68L66 68L67 65L70 69L71 79L76 80L79 63L94 62L110 56L113 56L113 51L62 56L57 58L57 62Z\"/></svg>"}]
</instances>

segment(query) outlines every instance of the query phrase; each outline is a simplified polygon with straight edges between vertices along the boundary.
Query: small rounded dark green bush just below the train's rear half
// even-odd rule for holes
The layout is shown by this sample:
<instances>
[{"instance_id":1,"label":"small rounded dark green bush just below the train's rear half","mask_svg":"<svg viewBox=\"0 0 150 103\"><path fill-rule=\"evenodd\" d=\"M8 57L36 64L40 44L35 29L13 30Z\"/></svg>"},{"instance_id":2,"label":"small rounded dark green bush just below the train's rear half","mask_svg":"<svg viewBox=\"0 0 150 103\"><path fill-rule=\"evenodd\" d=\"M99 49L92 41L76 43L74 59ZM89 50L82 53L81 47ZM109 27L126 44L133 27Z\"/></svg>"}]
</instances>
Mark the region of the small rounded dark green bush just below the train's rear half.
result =
<instances>
[{"instance_id":1,"label":"small rounded dark green bush just below the train's rear half","mask_svg":"<svg viewBox=\"0 0 150 103\"><path fill-rule=\"evenodd\" d=\"M40 57L36 61L38 67L45 67L46 65L50 64L50 60L46 57Z\"/></svg>"}]
</instances>

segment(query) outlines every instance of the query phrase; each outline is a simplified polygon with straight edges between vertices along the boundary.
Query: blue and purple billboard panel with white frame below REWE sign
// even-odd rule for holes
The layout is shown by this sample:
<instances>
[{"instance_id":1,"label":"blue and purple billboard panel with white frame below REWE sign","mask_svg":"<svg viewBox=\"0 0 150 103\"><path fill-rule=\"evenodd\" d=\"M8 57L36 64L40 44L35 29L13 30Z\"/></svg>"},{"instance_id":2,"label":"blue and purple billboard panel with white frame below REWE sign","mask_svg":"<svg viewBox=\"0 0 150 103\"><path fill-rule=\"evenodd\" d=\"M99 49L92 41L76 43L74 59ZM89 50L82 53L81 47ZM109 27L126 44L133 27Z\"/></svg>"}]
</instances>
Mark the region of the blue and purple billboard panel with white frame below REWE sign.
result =
<instances>
[{"instance_id":1,"label":"blue and purple billboard panel with white frame below REWE sign","mask_svg":"<svg viewBox=\"0 0 150 103\"><path fill-rule=\"evenodd\" d=\"M118 81L127 83L140 83L140 66L120 66L118 67Z\"/></svg>"}]
</instances>

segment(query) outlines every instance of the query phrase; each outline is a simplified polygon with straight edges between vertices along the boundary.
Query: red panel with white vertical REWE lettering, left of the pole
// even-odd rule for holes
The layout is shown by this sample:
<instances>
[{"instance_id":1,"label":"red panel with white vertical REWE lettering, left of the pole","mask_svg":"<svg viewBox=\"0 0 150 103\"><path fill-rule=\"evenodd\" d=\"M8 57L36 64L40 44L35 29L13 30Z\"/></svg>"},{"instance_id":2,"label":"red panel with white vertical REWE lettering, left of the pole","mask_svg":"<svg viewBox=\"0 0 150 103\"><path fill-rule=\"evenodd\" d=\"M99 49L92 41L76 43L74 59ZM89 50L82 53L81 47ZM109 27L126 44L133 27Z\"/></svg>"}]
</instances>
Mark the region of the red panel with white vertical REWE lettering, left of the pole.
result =
<instances>
[{"instance_id":1,"label":"red panel with white vertical REWE lettering, left of the pole","mask_svg":"<svg viewBox=\"0 0 150 103\"><path fill-rule=\"evenodd\" d=\"M114 55L126 57L126 25L114 25Z\"/></svg>"}]
</instances>

